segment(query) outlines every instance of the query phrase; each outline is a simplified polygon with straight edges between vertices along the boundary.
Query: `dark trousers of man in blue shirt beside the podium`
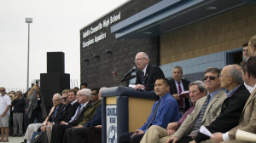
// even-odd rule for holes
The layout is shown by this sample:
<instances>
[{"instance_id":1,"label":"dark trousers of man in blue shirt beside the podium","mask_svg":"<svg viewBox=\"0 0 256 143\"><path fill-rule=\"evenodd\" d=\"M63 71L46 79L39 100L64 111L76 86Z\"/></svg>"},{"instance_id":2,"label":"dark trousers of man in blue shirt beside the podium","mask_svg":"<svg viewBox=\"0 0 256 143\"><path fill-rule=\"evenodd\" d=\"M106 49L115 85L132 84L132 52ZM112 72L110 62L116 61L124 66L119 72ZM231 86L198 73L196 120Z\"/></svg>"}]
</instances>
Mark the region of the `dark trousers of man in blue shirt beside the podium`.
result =
<instances>
[{"instance_id":1,"label":"dark trousers of man in blue shirt beside the podium","mask_svg":"<svg viewBox=\"0 0 256 143\"><path fill-rule=\"evenodd\" d=\"M119 136L119 143L139 143L143 139L144 134L136 134L131 137L134 132L126 132Z\"/></svg>"}]
</instances>

